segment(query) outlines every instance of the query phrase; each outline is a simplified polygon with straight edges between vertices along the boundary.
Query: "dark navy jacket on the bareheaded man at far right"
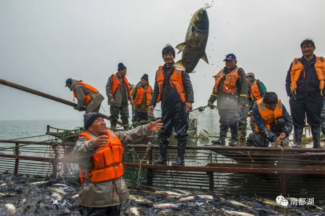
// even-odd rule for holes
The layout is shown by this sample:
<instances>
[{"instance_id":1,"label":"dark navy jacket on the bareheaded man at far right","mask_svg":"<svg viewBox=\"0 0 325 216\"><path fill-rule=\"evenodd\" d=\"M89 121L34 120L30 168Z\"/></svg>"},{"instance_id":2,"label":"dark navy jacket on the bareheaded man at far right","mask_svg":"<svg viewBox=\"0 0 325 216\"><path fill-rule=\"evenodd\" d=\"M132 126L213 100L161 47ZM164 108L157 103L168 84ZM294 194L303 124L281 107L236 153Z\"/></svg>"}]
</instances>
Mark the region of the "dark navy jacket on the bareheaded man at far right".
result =
<instances>
[{"instance_id":1,"label":"dark navy jacket on the bareheaded man at far right","mask_svg":"<svg viewBox=\"0 0 325 216\"><path fill-rule=\"evenodd\" d=\"M299 58L299 61L301 61L301 63L303 64L303 66L305 68L305 78L304 78L304 70L301 70L300 77L297 81L296 93L297 94L315 94L315 93L320 94L319 80L318 80L315 66L314 66L315 62L316 62L316 56L314 55L314 58L309 61L304 59L304 56L303 56L303 57ZM290 65L289 71L287 73L287 78L285 80L285 82L286 82L285 88L287 91L287 95L290 97L292 96L292 92L290 89L291 67L292 67L292 63ZM323 94L325 95L325 88L323 90Z\"/></svg>"}]
</instances>

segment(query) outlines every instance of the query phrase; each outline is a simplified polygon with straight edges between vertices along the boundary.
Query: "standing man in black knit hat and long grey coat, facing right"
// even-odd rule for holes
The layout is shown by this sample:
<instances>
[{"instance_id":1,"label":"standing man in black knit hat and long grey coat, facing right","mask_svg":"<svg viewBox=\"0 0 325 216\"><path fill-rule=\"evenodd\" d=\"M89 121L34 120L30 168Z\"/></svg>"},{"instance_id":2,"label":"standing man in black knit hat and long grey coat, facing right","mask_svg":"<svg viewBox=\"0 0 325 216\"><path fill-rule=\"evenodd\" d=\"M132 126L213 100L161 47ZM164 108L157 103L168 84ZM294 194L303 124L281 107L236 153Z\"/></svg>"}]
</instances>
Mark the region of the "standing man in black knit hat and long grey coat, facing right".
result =
<instances>
[{"instance_id":1,"label":"standing man in black knit hat and long grey coat, facing right","mask_svg":"<svg viewBox=\"0 0 325 216\"><path fill-rule=\"evenodd\" d=\"M124 129L129 127L129 101L132 105L133 99L131 97L129 82L125 75L126 67L123 63L119 63L117 73L112 74L106 84L106 95L108 97L108 105L110 105L111 128L116 127L120 113Z\"/></svg>"}]
</instances>

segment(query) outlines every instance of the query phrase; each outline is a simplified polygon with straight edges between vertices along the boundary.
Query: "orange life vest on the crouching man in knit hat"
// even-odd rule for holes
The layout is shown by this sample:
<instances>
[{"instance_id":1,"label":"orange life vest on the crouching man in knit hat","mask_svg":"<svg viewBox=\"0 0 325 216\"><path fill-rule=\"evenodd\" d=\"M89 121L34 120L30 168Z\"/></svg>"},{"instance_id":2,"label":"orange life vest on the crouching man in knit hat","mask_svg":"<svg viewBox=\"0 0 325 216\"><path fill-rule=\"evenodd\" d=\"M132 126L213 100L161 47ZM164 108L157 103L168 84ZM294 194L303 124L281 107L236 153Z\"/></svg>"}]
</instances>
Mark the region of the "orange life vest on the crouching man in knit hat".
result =
<instances>
[{"instance_id":1,"label":"orange life vest on the crouching man in knit hat","mask_svg":"<svg viewBox=\"0 0 325 216\"><path fill-rule=\"evenodd\" d=\"M281 100L278 100L278 104L275 106L273 111L266 108L266 106L263 104L263 98L255 101L255 103L257 104L258 113L260 113L265 126L267 129L271 130L271 124L274 122L277 123L282 117L283 109ZM259 131L257 125L254 122L253 124L255 125L255 131Z\"/></svg>"}]
</instances>

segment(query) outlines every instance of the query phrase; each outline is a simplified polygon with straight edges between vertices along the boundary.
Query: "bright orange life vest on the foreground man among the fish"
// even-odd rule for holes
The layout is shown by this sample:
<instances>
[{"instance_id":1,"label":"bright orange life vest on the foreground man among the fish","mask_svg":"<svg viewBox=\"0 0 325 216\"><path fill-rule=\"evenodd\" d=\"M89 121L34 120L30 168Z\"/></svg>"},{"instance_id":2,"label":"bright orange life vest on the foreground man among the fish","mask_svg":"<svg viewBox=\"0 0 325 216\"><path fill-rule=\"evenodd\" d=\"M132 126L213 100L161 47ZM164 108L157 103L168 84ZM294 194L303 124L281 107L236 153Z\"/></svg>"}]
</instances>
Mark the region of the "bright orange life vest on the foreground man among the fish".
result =
<instances>
[{"instance_id":1,"label":"bright orange life vest on the foreground man among the fish","mask_svg":"<svg viewBox=\"0 0 325 216\"><path fill-rule=\"evenodd\" d=\"M104 147L100 147L98 152L93 155L93 169L80 169L81 183L84 183L83 178L86 177L91 177L90 183L94 183L112 180L123 175L123 165L121 163L123 157L122 143L112 130L107 129L105 134L108 136L109 143ZM82 136L87 140L97 139L97 136L88 132L80 134L79 138ZM82 175L83 171L91 171L91 173Z\"/></svg>"}]
</instances>

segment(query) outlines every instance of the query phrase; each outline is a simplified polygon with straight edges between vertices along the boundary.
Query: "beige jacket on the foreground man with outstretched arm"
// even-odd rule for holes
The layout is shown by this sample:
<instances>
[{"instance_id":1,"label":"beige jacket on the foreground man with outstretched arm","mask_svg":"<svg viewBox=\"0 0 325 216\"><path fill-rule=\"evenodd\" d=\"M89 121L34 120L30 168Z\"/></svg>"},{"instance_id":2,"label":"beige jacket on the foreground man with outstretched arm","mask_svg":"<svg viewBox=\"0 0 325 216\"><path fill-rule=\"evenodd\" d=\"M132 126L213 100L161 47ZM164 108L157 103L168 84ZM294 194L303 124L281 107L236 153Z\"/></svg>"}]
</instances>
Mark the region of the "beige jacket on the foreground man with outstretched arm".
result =
<instances>
[{"instance_id":1,"label":"beige jacket on the foreground man with outstretched arm","mask_svg":"<svg viewBox=\"0 0 325 216\"><path fill-rule=\"evenodd\" d=\"M98 136L96 133L87 132ZM139 142L150 134L148 124L138 126L130 131L116 132L123 146ZM87 140L85 137L80 137L72 150L73 159L78 162L81 169L92 169L94 167L92 156L98 149L93 147L93 142L94 140ZM83 172L82 175L88 173L90 172ZM87 183L89 179L85 178L85 183L82 184L79 191L80 205L87 207L113 206L120 204L130 195L122 177L109 181Z\"/></svg>"}]
</instances>

